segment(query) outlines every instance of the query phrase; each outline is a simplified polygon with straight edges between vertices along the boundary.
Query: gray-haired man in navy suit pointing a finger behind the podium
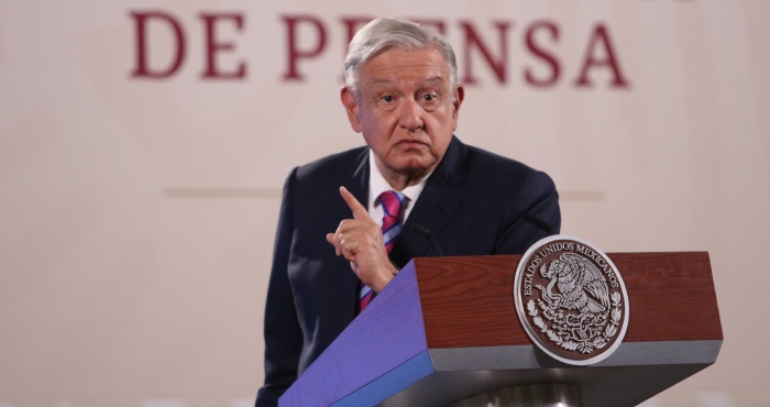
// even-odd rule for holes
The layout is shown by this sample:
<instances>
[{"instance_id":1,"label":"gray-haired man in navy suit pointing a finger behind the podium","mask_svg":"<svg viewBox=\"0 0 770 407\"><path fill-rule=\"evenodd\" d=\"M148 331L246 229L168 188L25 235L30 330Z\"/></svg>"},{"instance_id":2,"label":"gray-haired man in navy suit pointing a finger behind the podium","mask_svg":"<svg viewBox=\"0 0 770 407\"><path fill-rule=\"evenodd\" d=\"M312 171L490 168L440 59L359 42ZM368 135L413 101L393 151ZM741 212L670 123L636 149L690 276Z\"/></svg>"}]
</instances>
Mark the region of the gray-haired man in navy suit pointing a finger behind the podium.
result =
<instances>
[{"instance_id":1,"label":"gray-haired man in navy suit pointing a finger behind the podium","mask_svg":"<svg viewBox=\"0 0 770 407\"><path fill-rule=\"evenodd\" d=\"M414 224L448 255L524 253L559 231L546 174L453 136L463 97L452 48L433 32L378 19L351 41L341 99L367 146L297 167L286 180L257 407L277 404L370 292L413 257L437 255Z\"/></svg>"}]
</instances>

